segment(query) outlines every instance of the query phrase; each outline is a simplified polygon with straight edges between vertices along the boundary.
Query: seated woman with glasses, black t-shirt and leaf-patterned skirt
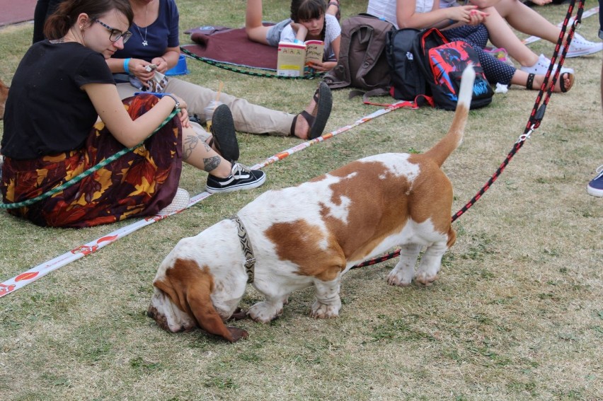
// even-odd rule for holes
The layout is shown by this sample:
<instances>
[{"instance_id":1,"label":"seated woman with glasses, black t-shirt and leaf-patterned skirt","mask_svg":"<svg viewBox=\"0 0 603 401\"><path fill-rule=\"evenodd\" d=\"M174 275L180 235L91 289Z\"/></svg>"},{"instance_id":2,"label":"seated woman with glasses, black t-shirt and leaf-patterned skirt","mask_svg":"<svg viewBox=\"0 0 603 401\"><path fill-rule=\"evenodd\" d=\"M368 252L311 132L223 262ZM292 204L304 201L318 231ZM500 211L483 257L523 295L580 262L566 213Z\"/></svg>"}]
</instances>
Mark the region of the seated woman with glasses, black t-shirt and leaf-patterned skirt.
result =
<instances>
[{"instance_id":1,"label":"seated woman with glasses, black t-shirt and leaf-patterned skirt","mask_svg":"<svg viewBox=\"0 0 603 401\"><path fill-rule=\"evenodd\" d=\"M183 162L207 171L207 187L218 190L265 181L260 170L193 146L197 134L178 95L122 103L105 60L131 39L133 18L127 0L63 1L45 24L48 40L21 59L6 100L0 192L11 204L58 191L9 213L74 228L154 215L176 196Z\"/></svg>"}]
</instances>

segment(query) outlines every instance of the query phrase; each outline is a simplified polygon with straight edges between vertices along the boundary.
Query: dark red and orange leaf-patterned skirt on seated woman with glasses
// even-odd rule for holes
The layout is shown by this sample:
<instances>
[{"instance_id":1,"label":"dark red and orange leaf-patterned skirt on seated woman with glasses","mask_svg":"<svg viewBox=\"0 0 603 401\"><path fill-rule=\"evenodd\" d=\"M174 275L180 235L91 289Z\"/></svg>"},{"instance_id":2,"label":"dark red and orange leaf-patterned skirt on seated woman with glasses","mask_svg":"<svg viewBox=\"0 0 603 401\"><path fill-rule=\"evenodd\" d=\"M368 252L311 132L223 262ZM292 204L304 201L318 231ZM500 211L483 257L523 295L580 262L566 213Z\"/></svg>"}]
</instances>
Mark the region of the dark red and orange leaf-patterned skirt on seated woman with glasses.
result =
<instances>
[{"instance_id":1,"label":"dark red and orange leaf-patterned skirt on seated woman with glasses","mask_svg":"<svg viewBox=\"0 0 603 401\"><path fill-rule=\"evenodd\" d=\"M151 109L153 95L124 100L135 119ZM62 185L124 146L102 122L83 149L33 160L4 158L0 190L4 203L22 202ZM182 126L173 117L134 151L96 170L52 197L8 213L39 226L91 227L134 216L149 216L171 203L182 171Z\"/></svg>"}]
</instances>

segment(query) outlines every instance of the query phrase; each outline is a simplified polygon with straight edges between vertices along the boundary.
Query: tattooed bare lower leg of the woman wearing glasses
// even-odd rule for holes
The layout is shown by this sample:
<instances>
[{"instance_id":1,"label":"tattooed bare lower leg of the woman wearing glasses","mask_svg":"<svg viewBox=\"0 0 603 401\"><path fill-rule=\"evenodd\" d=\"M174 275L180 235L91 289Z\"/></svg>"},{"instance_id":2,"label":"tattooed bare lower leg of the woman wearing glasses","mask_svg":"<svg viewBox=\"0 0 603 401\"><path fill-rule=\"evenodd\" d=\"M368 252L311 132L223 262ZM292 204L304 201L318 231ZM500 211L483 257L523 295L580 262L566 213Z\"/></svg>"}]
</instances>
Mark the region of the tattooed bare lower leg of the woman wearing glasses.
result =
<instances>
[{"instance_id":1,"label":"tattooed bare lower leg of the woman wearing glasses","mask_svg":"<svg viewBox=\"0 0 603 401\"><path fill-rule=\"evenodd\" d=\"M194 129L182 129L183 161L218 178L226 178L232 165L206 144Z\"/></svg>"}]
</instances>

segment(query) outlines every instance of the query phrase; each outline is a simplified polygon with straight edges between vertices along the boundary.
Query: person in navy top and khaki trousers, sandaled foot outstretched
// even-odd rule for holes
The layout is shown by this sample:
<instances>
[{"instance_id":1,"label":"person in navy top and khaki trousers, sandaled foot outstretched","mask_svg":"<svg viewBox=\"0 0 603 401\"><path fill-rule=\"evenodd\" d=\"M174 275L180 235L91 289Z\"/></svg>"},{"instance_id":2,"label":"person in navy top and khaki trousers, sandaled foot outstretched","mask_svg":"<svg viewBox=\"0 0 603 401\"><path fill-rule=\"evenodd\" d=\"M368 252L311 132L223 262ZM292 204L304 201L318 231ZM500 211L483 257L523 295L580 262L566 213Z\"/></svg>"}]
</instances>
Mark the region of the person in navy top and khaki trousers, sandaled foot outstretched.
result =
<instances>
[{"instance_id":1,"label":"person in navy top and khaki trousers, sandaled foot outstretched","mask_svg":"<svg viewBox=\"0 0 603 401\"><path fill-rule=\"evenodd\" d=\"M154 77L154 71L147 68L149 64L154 64L156 71L165 73L176 66L180 57L176 2L130 0L130 4L134 11L134 22L130 27L132 39L107 60L122 99L149 88L149 83ZM137 86L142 86L142 89ZM200 122L207 120L204 109L217 95L209 88L173 77L168 78L163 91L176 93L183 98L189 115L196 115ZM301 139L321 136L331 114L332 105L331 91L326 85L318 87L314 98L298 115L253 105L247 100L226 93L221 93L219 100L229 106L234 118L234 127L239 132L292 135ZM212 141L211 135L205 133L199 124L192 125L206 143Z\"/></svg>"}]
</instances>

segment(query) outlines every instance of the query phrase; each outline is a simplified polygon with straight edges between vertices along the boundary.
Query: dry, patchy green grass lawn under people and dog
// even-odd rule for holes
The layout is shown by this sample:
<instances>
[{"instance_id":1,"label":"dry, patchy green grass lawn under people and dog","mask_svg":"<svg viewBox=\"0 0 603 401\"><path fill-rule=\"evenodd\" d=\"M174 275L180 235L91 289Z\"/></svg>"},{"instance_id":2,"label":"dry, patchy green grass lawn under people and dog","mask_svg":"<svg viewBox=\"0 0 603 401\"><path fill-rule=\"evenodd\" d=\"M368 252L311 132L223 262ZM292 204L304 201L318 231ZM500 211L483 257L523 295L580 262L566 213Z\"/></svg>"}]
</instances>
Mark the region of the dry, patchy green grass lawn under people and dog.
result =
<instances>
[{"instance_id":1,"label":"dry, patchy green grass lawn under people and dog","mask_svg":"<svg viewBox=\"0 0 603 401\"><path fill-rule=\"evenodd\" d=\"M267 0L267 20L288 2ZM240 27L243 0L178 0L180 29ZM343 18L366 1L343 1ZM585 8L597 5L587 1ZM553 23L567 6L538 8ZM580 33L597 37L597 16ZM10 83L33 25L0 29L0 79ZM521 35L526 37L526 35ZM190 43L181 33L182 44ZM530 45L551 55L553 45ZM603 163L602 54L568 59L571 91L553 94L541 127L491 189L454 223L457 240L427 288L386 284L397 260L355 269L332 320L309 318L312 289L289 298L278 320L234 323L249 338L229 344L202 330L170 334L147 318L156 269L180 238L231 216L259 194L314 178L375 153L425 151L452 112L389 112L265 168L263 187L217 194L142 228L0 298L0 398L7 400L602 400L603 200L586 193ZM317 81L236 74L188 59L182 78L299 112ZM327 129L380 107L333 92ZM512 87L470 112L464 143L444 164L453 210L476 194L523 133L536 91ZM381 100L385 100L381 99ZM49 122L52 124L52 122ZM4 123L0 122L0 136ZM253 165L299 139L238 134ZM189 166L181 187L205 188ZM371 188L358 190L370 191ZM304 204L299 204L304 207ZM0 281L117 228L39 228L0 213ZM241 306L260 301L249 286Z\"/></svg>"}]
</instances>

